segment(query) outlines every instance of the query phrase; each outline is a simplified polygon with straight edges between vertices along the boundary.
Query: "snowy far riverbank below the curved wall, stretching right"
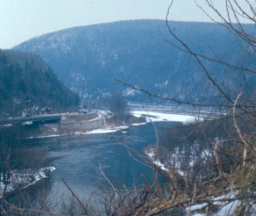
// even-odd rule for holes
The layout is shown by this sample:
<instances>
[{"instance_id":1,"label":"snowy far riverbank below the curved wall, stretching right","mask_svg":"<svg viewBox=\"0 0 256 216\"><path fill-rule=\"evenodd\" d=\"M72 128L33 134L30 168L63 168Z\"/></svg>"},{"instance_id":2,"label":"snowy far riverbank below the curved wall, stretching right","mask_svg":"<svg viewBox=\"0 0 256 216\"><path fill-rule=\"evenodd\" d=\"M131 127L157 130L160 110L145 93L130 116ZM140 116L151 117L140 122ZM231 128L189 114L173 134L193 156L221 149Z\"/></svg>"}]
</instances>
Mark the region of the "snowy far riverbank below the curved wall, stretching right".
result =
<instances>
[{"instance_id":1,"label":"snowy far riverbank below the curved wall, stretching right","mask_svg":"<svg viewBox=\"0 0 256 216\"><path fill-rule=\"evenodd\" d=\"M94 118L86 121L80 121L80 119L74 119L72 122L65 122L65 129L61 129L56 125L47 125L38 133L31 136L27 136L26 139L44 139L54 138L60 136L70 135L84 135L84 134L107 134L115 133L132 126L142 126L150 122L182 122L183 124L189 124L191 122L202 121L202 117L194 117L189 115L178 115L172 113L163 113L160 111L142 111L132 110L124 122L115 122L113 116L108 111L96 111ZM102 124L96 126L95 122L102 121ZM89 124L86 128L79 127L82 123ZM74 127L75 125L75 127ZM69 127L69 128L68 128ZM90 129L88 129L90 128Z\"/></svg>"}]
</instances>

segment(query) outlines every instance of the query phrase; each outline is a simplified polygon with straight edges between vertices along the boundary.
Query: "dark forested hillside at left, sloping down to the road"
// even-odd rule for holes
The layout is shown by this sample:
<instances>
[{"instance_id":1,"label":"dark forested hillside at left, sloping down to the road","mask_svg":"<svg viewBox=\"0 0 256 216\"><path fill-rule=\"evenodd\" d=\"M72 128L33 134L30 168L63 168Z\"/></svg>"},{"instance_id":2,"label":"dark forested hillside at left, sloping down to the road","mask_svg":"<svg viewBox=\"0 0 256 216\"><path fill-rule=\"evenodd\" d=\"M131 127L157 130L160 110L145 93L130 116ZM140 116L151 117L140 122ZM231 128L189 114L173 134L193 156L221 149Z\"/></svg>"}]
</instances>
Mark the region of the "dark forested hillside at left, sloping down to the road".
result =
<instances>
[{"instance_id":1,"label":"dark forested hillside at left, sloping down to the road","mask_svg":"<svg viewBox=\"0 0 256 216\"><path fill-rule=\"evenodd\" d=\"M78 105L79 96L65 87L40 57L0 50L0 114L20 115L24 109L65 111Z\"/></svg>"}]
</instances>

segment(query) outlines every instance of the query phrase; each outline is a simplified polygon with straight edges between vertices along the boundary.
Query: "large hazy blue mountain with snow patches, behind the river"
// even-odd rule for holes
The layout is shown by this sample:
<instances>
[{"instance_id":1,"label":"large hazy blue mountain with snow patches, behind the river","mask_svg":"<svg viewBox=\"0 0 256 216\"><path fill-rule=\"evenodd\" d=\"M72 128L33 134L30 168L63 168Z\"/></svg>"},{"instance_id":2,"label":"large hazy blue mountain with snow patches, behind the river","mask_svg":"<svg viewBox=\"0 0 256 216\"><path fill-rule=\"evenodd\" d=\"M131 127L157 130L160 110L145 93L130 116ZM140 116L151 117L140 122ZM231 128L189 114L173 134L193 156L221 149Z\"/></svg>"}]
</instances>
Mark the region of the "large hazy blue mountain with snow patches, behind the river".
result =
<instances>
[{"instance_id":1,"label":"large hazy blue mountain with snow patches, behind the river","mask_svg":"<svg viewBox=\"0 0 256 216\"><path fill-rule=\"evenodd\" d=\"M200 54L236 65L255 62L254 51L217 24L171 22L171 26ZM247 31L253 28L245 26ZM116 92L123 92L131 100L151 101L114 82L114 78L177 99L219 101L218 90L195 59L166 40L179 45L167 31L165 20L132 20L56 31L15 49L41 56L57 77L84 95L86 101L108 98ZM247 93L255 89L255 76L203 61L230 95L241 89Z\"/></svg>"}]
</instances>

